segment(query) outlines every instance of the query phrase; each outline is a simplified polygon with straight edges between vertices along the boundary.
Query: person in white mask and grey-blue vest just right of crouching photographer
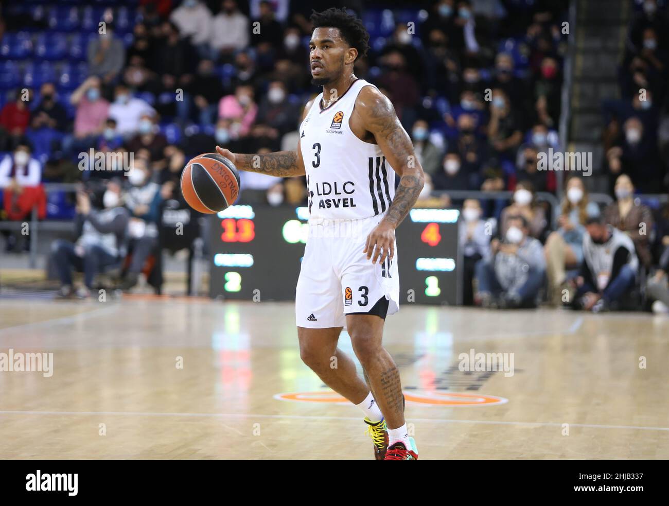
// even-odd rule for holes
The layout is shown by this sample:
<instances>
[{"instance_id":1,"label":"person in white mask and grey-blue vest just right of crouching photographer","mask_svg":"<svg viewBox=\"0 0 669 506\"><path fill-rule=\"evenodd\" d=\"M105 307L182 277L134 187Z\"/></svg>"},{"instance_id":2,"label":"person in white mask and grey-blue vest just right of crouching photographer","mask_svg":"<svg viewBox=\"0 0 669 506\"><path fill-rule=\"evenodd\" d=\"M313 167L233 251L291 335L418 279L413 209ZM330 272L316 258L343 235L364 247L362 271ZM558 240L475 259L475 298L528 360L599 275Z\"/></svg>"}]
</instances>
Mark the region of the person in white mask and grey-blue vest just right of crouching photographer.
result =
<instances>
[{"instance_id":1,"label":"person in white mask and grey-blue vest just right of crouching photographer","mask_svg":"<svg viewBox=\"0 0 669 506\"><path fill-rule=\"evenodd\" d=\"M128 251L131 254L130 265L124 273L121 289L130 290L139 280L139 274L158 244L158 227L163 197L161 187L151 181L151 170L147 163L135 159L128 171L128 183L125 205L130 210Z\"/></svg>"}]
</instances>

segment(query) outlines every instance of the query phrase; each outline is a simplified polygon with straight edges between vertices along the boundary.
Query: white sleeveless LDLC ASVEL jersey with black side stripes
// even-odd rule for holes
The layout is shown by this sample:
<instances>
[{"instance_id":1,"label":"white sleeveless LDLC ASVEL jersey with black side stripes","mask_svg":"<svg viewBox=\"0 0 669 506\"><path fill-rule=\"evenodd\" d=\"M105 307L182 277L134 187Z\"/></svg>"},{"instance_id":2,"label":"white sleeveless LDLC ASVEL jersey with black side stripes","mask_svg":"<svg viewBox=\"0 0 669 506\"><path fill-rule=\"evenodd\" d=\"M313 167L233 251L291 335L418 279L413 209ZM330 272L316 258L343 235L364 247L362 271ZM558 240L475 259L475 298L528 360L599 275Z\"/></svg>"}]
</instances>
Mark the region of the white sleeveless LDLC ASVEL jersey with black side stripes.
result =
<instances>
[{"instance_id":1,"label":"white sleeveless LDLC ASVEL jersey with black side stripes","mask_svg":"<svg viewBox=\"0 0 669 506\"><path fill-rule=\"evenodd\" d=\"M359 220L385 212L395 195L395 171L376 144L361 141L349 119L364 86L358 79L334 104L322 108L319 94L300 124L312 218Z\"/></svg>"}]
</instances>

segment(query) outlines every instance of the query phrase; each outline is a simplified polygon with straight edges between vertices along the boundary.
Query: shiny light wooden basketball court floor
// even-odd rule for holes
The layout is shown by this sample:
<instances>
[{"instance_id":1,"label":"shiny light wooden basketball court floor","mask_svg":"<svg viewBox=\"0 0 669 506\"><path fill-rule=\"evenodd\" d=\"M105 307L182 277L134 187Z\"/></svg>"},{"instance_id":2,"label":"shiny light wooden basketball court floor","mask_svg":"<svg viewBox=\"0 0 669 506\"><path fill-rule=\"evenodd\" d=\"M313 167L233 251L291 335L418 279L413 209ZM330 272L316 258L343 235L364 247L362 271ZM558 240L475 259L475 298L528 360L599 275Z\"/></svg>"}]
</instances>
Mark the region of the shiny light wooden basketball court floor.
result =
<instances>
[{"instance_id":1,"label":"shiny light wooden basketball court floor","mask_svg":"<svg viewBox=\"0 0 669 506\"><path fill-rule=\"evenodd\" d=\"M669 458L669 318L405 304L386 327L421 459ZM2 459L373 458L300 361L291 303L3 299L10 349L53 367L0 372Z\"/></svg>"}]
</instances>

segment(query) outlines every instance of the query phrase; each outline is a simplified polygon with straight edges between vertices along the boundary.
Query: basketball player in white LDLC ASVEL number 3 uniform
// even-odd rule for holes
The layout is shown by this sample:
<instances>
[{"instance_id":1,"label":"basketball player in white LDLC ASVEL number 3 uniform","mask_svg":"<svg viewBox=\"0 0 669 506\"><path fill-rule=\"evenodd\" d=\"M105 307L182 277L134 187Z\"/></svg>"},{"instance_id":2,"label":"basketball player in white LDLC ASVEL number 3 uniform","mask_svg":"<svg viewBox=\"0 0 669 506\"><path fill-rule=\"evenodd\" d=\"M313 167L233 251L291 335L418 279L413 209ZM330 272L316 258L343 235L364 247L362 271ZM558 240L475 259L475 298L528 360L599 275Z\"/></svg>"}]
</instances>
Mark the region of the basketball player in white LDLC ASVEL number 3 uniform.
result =
<instances>
[{"instance_id":1,"label":"basketball player in white LDLC ASVEL number 3 uniform","mask_svg":"<svg viewBox=\"0 0 669 506\"><path fill-rule=\"evenodd\" d=\"M416 460L399 371L381 338L386 315L399 309L395 228L423 187L423 169L393 104L353 74L368 48L363 23L334 8L310 19L312 83L323 92L304 108L297 151L216 150L237 169L306 174L309 235L295 304L300 356L365 412L377 460ZM367 383L337 348L344 326Z\"/></svg>"}]
</instances>

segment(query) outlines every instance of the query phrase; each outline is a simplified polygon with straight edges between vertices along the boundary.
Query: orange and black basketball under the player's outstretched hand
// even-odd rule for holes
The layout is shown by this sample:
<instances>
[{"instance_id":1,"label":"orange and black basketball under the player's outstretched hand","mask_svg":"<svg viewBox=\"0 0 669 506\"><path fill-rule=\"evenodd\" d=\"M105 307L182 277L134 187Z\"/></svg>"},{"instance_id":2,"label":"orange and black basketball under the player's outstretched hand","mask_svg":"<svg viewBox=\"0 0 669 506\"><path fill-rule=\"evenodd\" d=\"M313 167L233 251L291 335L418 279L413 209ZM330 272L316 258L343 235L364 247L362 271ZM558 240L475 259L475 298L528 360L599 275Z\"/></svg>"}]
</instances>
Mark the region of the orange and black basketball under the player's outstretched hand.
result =
<instances>
[{"instance_id":1,"label":"orange and black basketball under the player's outstretched hand","mask_svg":"<svg viewBox=\"0 0 669 506\"><path fill-rule=\"evenodd\" d=\"M197 155L181 173L181 193L196 211L214 214L235 203L240 194L240 174L218 153Z\"/></svg>"}]
</instances>

